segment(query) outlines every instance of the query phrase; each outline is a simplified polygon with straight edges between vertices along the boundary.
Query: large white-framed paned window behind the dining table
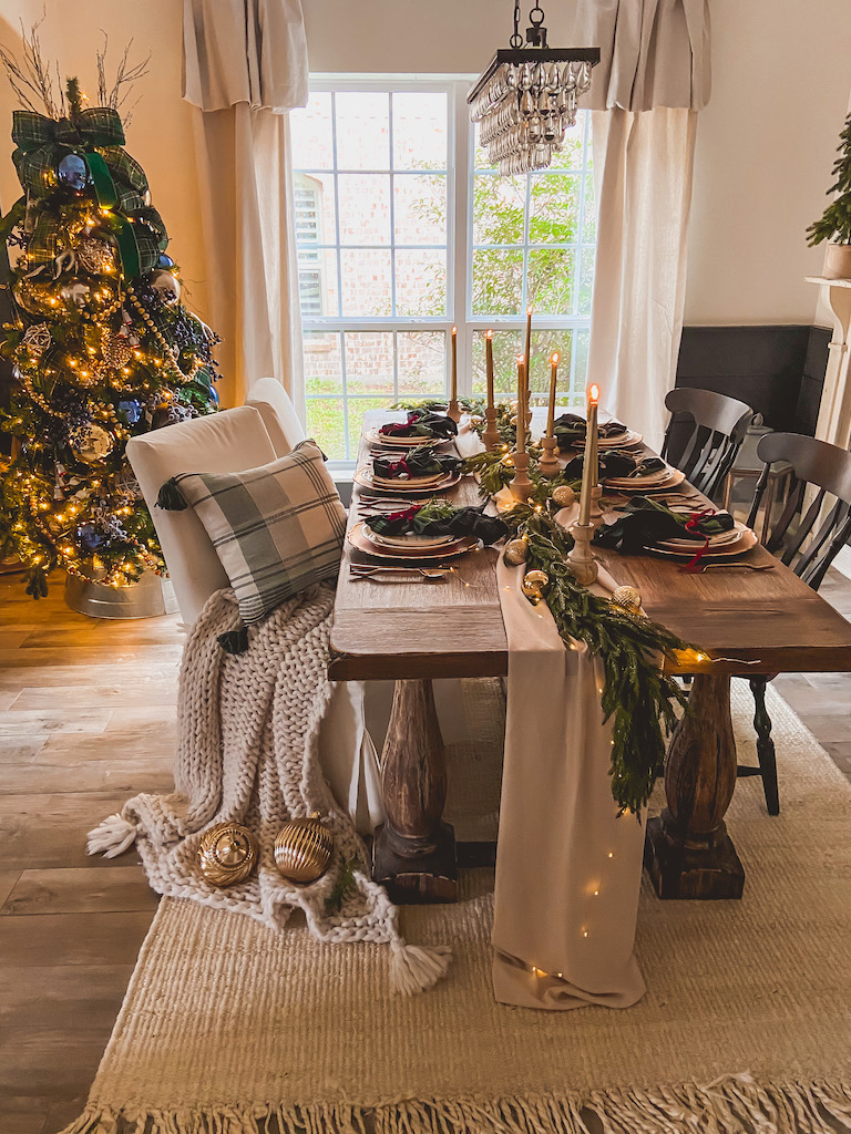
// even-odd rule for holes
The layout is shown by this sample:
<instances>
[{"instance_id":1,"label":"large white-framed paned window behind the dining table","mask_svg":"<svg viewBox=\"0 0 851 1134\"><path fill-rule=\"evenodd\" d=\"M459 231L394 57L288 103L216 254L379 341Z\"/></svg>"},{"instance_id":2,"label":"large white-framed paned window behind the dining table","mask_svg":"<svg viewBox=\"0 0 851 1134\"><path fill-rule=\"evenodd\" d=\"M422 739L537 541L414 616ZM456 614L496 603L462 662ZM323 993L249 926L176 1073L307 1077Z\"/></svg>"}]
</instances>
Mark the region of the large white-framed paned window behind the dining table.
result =
<instances>
[{"instance_id":1,"label":"large white-framed paned window behind the dining table","mask_svg":"<svg viewBox=\"0 0 851 1134\"><path fill-rule=\"evenodd\" d=\"M357 454L363 414L443 397L458 328L458 389L485 392L485 332L511 393L534 307L533 392L548 357L582 400L595 259L590 116L557 164L503 178L466 110L470 82L317 83L293 111L298 294L307 431L335 463Z\"/></svg>"}]
</instances>

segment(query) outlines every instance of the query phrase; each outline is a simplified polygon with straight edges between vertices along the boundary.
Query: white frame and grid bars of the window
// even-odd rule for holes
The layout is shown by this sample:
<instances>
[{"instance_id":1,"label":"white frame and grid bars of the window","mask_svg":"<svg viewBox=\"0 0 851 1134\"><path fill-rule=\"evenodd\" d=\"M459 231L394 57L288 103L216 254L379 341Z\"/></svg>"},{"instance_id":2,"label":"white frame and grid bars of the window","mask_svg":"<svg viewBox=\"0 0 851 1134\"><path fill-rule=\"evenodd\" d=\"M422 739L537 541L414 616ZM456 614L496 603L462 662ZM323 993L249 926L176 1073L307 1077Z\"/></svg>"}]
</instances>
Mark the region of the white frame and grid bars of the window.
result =
<instances>
[{"instance_id":1,"label":"white frame and grid bars of the window","mask_svg":"<svg viewBox=\"0 0 851 1134\"><path fill-rule=\"evenodd\" d=\"M444 393L448 391L448 365L449 365L449 332L453 327L457 327L458 339L458 392L462 396L472 393L472 350L473 336L477 331L494 330L516 330L522 331L525 327L526 307L526 279L528 270L523 271L523 302L521 312L517 315L474 315L473 305L473 188L474 188L474 153L475 132L470 122L466 95L470 86L475 81L474 75L340 75L340 74L313 74L310 78L310 90L321 93L336 94L338 92L388 92L390 94L422 91L423 93L441 93L447 96L447 170L446 170L446 303L447 314L440 316L424 315L396 315L396 316L351 316L351 315L322 315L310 316L302 320L303 333L326 332L340 336L340 382L339 395L343 415L346 445L348 446L348 417L349 406L357 401L374 400L380 395L377 393L349 393L346 383L346 331L384 331L401 332L406 331L438 331L446 337L447 349L445 352L444 366ZM336 167L336 115L332 116L332 129L335 134L335 167ZM390 113L390 137L389 137L390 166L393 166L393 115ZM311 170L296 167L300 174L329 174L329 170ZM466 170L466 176L463 171ZM381 174L395 175L397 170L345 170L335 168L332 171L335 179L335 209L336 209L336 237L337 237L337 287L339 302L342 303L342 256L339 249L344 246L339 244L339 196L337 193L337 177L340 174ZM411 171L421 172L421 171ZM428 174L428 170L422 172ZM404 172L402 176L406 176ZM529 183L528 183L529 184ZM582 226L584 223L585 181L582 178L580 187L579 205L579 239L576 245L576 287L581 279L581 256L582 256ZM526 189L529 194L529 188ZM395 240L395 200L390 192L390 243L382 245L356 245L356 247L379 248L391 252L397 247ZM463 220L462 220L463 218ZM529 209L525 210L524 220L524 247L529 244ZM403 245L402 247L406 247ZM443 245L418 245L419 248L437 248ZM511 245L516 247L516 245ZM391 260L391 266L394 261ZM457 282L461 286L456 286ZM395 273L391 276L391 288L395 298ZM395 303L394 303L395 305ZM587 330L590 328L590 316L576 315L547 315L541 320L542 325L551 330ZM573 389L576 366L576 350L571 352L571 382ZM398 354L396 350L396 339L394 338L394 388L388 398L398 397ZM437 391L436 391L437 392ZM334 395L306 395L306 400L327 400ZM329 464L338 469L353 468L353 452L347 459L332 460Z\"/></svg>"}]
</instances>

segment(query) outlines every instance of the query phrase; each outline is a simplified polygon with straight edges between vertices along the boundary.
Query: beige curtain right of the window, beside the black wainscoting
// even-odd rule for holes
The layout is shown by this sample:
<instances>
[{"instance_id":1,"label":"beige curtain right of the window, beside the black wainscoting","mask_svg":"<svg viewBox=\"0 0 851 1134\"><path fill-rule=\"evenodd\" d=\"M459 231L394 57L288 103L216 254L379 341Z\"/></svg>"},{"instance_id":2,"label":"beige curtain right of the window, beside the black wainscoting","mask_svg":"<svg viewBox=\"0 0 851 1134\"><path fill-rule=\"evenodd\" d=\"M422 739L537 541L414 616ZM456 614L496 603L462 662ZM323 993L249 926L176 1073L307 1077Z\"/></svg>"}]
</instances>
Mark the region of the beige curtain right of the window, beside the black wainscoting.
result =
<instances>
[{"instance_id":1,"label":"beige curtain right of the window, beside the black wainscoting","mask_svg":"<svg viewBox=\"0 0 851 1134\"><path fill-rule=\"evenodd\" d=\"M697 112L709 98L708 0L580 0L600 48L592 109L598 243L589 381L662 445L685 298Z\"/></svg>"}]
</instances>

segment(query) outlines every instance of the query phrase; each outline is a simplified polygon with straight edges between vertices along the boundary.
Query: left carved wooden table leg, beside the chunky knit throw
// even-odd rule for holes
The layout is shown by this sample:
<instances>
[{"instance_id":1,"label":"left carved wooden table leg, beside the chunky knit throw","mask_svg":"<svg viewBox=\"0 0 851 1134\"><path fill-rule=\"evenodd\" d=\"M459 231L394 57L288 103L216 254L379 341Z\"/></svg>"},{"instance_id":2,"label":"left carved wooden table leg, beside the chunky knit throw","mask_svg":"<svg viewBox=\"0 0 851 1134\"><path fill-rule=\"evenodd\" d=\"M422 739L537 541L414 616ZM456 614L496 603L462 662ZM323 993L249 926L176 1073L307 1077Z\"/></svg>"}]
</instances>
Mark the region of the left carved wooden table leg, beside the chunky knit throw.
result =
<instances>
[{"instance_id":1,"label":"left carved wooden table leg, beside the chunky knit throw","mask_svg":"<svg viewBox=\"0 0 851 1134\"><path fill-rule=\"evenodd\" d=\"M440 816L446 760L431 682L396 682L381 754L387 820L376 831L372 875L397 903L455 902L455 832Z\"/></svg>"}]
</instances>

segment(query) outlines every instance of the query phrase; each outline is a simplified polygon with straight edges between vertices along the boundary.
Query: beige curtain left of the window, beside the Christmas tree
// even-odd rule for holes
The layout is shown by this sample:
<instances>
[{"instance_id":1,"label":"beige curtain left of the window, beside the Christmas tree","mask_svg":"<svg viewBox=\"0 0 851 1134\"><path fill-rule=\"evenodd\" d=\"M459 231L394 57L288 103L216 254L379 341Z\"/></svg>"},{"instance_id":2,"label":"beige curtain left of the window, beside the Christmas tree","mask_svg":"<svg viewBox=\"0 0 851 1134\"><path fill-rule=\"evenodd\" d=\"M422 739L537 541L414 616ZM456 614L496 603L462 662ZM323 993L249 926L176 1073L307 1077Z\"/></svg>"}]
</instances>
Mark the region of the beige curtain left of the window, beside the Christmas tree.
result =
<instances>
[{"instance_id":1,"label":"beige curtain left of the window, beside the Christmas tree","mask_svg":"<svg viewBox=\"0 0 851 1134\"><path fill-rule=\"evenodd\" d=\"M276 378L304 412L288 111L307 100L301 0L184 0L222 401Z\"/></svg>"}]
</instances>

